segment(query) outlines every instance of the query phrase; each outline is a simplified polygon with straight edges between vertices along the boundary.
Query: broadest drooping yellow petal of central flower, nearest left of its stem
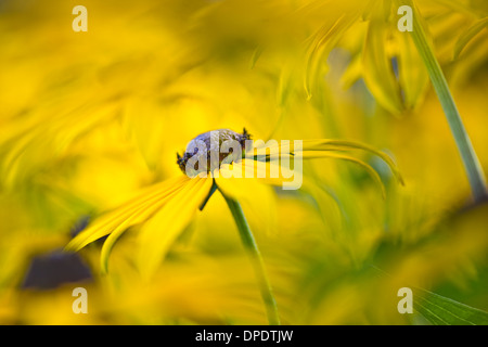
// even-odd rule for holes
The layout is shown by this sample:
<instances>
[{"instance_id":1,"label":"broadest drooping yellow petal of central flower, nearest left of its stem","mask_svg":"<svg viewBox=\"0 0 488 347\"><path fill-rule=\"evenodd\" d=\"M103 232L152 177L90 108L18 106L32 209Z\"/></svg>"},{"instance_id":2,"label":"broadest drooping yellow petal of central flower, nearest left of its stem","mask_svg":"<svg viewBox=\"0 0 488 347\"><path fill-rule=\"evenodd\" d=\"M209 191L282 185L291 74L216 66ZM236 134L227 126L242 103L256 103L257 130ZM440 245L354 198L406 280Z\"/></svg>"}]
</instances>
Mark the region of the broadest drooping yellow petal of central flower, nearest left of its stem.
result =
<instances>
[{"instance_id":1,"label":"broadest drooping yellow petal of central flower, nearest left of its stem","mask_svg":"<svg viewBox=\"0 0 488 347\"><path fill-rule=\"evenodd\" d=\"M140 230L139 268L151 277L171 244L193 219L214 183L211 178L195 177L172 196Z\"/></svg>"}]
</instances>

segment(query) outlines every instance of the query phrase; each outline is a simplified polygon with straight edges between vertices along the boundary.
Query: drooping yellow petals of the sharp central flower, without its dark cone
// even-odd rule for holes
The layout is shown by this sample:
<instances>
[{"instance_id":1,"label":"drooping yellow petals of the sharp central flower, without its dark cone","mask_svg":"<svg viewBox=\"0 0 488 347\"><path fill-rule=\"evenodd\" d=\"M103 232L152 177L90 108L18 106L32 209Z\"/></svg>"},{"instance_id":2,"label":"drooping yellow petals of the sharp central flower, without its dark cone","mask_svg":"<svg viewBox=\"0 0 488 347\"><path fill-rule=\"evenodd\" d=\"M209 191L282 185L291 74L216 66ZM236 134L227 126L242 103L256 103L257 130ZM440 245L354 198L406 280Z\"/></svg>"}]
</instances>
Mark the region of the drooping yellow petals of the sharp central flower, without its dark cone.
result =
<instances>
[{"instance_id":1,"label":"drooping yellow petals of the sharp central flower, without its dark cone","mask_svg":"<svg viewBox=\"0 0 488 347\"><path fill-rule=\"evenodd\" d=\"M216 132L222 134L226 131L236 134L227 129L220 129ZM232 187L236 178L231 176L237 171L242 172L240 176L243 178L253 177L253 179L267 184L282 185L284 182L290 181L293 175L300 175L299 172L291 172L290 167L283 165L283 157L287 156L294 162L297 158L329 157L345 159L360 165L381 184L378 175L368 164L342 153L351 150L365 150L378 155L401 180L393 160L387 155L356 142L305 140L301 149L294 149L288 143L286 145L277 143L268 146L255 146L252 150L252 156L247 152L243 154L243 158L234 158L231 163L224 163L223 158L220 157L217 170L211 174L209 171L192 171L194 177L182 175L147 188L138 197L98 218L88 229L73 239L66 246L66 249L79 250L93 241L110 234L104 242L101 253L102 271L105 272L107 270L108 256L118 237L130 227L144 223L140 231L142 248L140 260L143 268L152 272L162 261L180 232L190 223L194 214L198 208L203 208L206 200L217 187L223 194L229 196L236 195L236 191ZM280 154L282 158L279 163L275 159L278 157L277 154ZM188 152L184 155L188 159ZM179 156L178 159L180 168L182 167L183 157ZM273 169L279 172L278 177L269 175ZM252 194L252 192L248 192L248 194Z\"/></svg>"}]
</instances>

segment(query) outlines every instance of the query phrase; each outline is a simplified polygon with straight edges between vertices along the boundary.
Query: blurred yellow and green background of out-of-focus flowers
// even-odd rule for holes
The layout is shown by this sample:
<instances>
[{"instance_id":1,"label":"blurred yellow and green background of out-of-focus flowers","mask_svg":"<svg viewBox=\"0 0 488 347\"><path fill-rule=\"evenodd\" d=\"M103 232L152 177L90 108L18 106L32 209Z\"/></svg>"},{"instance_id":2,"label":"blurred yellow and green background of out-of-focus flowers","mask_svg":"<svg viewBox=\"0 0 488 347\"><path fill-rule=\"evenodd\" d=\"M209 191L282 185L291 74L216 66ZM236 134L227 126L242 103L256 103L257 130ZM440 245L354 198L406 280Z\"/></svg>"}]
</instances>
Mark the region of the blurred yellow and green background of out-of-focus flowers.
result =
<instances>
[{"instance_id":1,"label":"blurred yellow and green background of out-of-focus flowers","mask_svg":"<svg viewBox=\"0 0 488 347\"><path fill-rule=\"evenodd\" d=\"M0 322L266 324L219 194L152 281L133 265L139 227L64 253L93 218L181 175L196 134L348 139L377 157L383 198L354 164L304 165L306 184L256 184L241 202L285 324L428 324L399 314L420 287L488 310L488 203L474 204L455 143L391 1L0 1ZM484 0L418 1L488 171ZM416 3L416 2L415 2ZM75 5L88 31L75 33ZM486 21L485 21L486 22ZM479 25L478 25L479 26ZM164 230L162 230L164 232ZM73 288L88 291L75 314Z\"/></svg>"}]
</instances>

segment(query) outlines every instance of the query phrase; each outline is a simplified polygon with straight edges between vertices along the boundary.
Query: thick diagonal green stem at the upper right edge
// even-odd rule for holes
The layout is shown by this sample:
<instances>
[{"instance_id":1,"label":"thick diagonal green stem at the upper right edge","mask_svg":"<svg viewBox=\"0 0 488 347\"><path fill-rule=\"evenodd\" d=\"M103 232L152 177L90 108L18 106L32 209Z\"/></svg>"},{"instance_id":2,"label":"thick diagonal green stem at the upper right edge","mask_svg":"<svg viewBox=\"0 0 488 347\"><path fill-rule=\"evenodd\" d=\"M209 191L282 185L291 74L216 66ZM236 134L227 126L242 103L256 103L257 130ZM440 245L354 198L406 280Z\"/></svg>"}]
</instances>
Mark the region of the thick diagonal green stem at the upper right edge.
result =
<instances>
[{"instance_id":1,"label":"thick diagonal green stem at the upper right edge","mask_svg":"<svg viewBox=\"0 0 488 347\"><path fill-rule=\"evenodd\" d=\"M464 128L461 115L458 112L458 107L455 106L454 100L451 95L449 86L442 74L440 65L437 62L434 55L434 51L427 41L425 31L422 27L422 23L420 20L420 13L414 8L413 2L411 0L404 0L401 2L407 3L412 9L414 9L413 31L411 31L410 34L412 35L415 47L420 55L422 56L422 60L424 61L424 64L431 77L431 81L440 101L444 113L446 114L449 127L451 128L451 132L454 137L454 141L461 154L464 168L467 172L467 179L470 181L471 190L473 192L473 197L475 202L479 202L487 195L486 181L483 168L473 149L466 129ZM398 1L398 3L400 3L400 1Z\"/></svg>"}]
</instances>

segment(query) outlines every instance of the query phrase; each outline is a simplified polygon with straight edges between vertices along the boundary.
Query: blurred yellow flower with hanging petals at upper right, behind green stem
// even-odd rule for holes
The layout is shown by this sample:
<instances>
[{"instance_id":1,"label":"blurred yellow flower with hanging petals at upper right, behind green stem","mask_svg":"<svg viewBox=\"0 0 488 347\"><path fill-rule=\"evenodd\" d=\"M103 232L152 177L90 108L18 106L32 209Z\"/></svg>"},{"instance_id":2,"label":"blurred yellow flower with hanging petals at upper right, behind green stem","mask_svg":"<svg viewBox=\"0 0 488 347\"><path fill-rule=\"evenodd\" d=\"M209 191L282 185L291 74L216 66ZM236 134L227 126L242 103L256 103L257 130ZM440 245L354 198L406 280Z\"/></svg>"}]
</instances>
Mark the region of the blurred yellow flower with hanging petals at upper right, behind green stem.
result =
<instances>
[{"instance_id":1,"label":"blurred yellow flower with hanging petals at upper right, behind green stem","mask_svg":"<svg viewBox=\"0 0 488 347\"><path fill-rule=\"evenodd\" d=\"M414 15L421 15L419 21L425 30L428 28L428 40L439 63L449 65L451 74L462 75L483 62L486 44L474 39L488 23L480 5L465 1L364 1L334 21L324 20L310 38L305 62L307 94L311 98L319 92L317 76L321 76L331 51L342 48L350 53L342 80L346 88L363 78L376 102L388 113L398 115L414 110L428 90L428 74L409 33L398 29L402 17L398 9L403 4L419 7ZM453 27L461 34L452 35ZM475 41L471 47L473 56L455 61L471 41Z\"/></svg>"}]
</instances>

